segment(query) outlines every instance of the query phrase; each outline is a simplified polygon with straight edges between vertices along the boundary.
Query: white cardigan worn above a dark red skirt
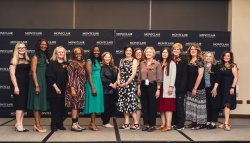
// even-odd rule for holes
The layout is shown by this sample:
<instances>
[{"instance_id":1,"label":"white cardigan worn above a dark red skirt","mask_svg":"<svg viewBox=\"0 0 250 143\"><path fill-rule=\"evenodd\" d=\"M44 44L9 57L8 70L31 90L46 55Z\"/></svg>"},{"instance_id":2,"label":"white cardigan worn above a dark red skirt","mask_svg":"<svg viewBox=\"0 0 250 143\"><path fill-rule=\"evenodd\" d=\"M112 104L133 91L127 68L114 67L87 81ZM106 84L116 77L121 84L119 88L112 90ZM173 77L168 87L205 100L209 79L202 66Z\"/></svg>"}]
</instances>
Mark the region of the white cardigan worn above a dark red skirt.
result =
<instances>
[{"instance_id":1,"label":"white cardigan worn above a dark red skirt","mask_svg":"<svg viewBox=\"0 0 250 143\"><path fill-rule=\"evenodd\" d=\"M170 62L169 65L169 75L167 76L166 67L163 72L163 98L176 98L175 96L175 77L176 77L176 64L174 61ZM171 95L168 94L169 86L173 87L173 93Z\"/></svg>"}]
</instances>

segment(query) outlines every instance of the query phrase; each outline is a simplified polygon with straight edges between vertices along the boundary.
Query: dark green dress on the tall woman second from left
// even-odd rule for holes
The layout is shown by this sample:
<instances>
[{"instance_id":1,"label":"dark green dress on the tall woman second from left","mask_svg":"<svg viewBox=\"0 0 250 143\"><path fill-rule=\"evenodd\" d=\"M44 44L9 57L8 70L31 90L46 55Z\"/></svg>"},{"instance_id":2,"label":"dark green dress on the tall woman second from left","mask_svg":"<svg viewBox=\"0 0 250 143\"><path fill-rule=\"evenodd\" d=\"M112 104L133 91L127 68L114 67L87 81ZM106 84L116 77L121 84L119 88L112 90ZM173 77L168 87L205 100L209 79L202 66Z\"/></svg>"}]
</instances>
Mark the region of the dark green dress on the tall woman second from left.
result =
<instances>
[{"instance_id":1,"label":"dark green dress on the tall woman second from left","mask_svg":"<svg viewBox=\"0 0 250 143\"><path fill-rule=\"evenodd\" d=\"M29 79L29 92L28 92L28 103L27 108L30 110L40 110L40 111L47 111L49 108L49 104L47 101L47 83L45 78L46 72L46 56L41 54L40 57L37 56L37 82L40 87L40 93L36 94L35 92L35 84L30 76Z\"/></svg>"}]
</instances>

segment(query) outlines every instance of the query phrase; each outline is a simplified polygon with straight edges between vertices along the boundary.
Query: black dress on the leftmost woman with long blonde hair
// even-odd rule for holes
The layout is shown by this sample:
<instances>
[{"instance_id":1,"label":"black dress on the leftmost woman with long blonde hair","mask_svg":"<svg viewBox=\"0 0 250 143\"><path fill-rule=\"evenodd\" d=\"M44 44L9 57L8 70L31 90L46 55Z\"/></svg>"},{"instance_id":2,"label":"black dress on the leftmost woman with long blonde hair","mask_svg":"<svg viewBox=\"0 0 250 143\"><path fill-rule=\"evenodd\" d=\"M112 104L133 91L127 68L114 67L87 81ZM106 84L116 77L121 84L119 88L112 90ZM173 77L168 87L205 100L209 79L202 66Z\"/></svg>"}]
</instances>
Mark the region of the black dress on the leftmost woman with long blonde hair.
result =
<instances>
[{"instance_id":1,"label":"black dress on the leftmost woman with long blonde hair","mask_svg":"<svg viewBox=\"0 0 250 143\"><path fill-rule=\"evenodd\" d=\"M16 110L27 109L28 89L29 89L30 64L16 65L16 81L19 88L19 95L14 95L14 86L12 84L12 93L14 95L14 108Z\"/></svg>"}]
</instances>

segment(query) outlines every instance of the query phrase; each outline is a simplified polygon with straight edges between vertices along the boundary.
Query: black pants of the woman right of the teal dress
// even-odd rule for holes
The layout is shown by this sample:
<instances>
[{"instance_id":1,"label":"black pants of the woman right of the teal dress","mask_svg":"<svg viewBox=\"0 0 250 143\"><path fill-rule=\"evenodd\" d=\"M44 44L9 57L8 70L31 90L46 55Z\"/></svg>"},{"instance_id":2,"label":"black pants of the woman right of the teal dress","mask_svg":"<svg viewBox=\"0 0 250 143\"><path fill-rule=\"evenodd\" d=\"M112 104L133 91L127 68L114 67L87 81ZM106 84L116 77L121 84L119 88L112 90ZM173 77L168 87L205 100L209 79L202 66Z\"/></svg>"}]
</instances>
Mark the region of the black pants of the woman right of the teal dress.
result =
<instances>
[{"instance_id":1,"label":"black pants of the woman right of the teal dress","mask_svg":"<svg viewBox=\"0 0 250 143\"><path fill-rule=\"evenodd\" d=\"M108 124L115 111L115 95L104 94L104 112L101 114L102 124Z\"/></svg>"}]
</instances>

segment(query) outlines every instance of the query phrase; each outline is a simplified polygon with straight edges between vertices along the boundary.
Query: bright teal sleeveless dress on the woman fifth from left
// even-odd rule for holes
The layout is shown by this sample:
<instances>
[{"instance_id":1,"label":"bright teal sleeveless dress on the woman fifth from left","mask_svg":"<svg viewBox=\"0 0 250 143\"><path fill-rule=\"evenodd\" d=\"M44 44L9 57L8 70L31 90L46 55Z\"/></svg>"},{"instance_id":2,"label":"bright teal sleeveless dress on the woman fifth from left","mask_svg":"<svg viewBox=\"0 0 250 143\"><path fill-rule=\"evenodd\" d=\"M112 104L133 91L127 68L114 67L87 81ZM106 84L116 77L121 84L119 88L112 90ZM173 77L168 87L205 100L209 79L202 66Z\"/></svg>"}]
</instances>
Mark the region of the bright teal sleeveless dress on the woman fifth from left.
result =
<instances>
[{"instance_id":1,"label":"bright teal sleeveless dress on the woman fifth from left","mask_svg":"<svg viewBox=\"0 0 250 143\"><path fill-rule=\"evenodd\" d=\"M88 62L91 62L88 59ZM95 65L92 63L92 79L97 95L92 95L92 89L89 84L89 80L86 82L86 100L84 114L91 113L103 113L104 112L104 97L103 97L103 87L101 81L101 66L98 60L95 60Z\"/></svg>"}]
</instances>

